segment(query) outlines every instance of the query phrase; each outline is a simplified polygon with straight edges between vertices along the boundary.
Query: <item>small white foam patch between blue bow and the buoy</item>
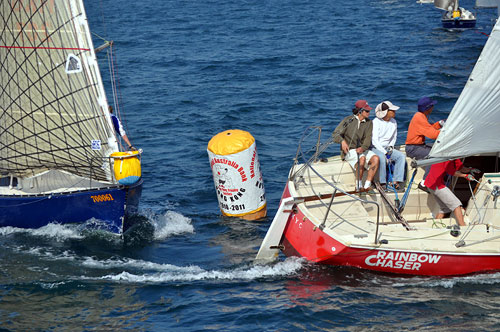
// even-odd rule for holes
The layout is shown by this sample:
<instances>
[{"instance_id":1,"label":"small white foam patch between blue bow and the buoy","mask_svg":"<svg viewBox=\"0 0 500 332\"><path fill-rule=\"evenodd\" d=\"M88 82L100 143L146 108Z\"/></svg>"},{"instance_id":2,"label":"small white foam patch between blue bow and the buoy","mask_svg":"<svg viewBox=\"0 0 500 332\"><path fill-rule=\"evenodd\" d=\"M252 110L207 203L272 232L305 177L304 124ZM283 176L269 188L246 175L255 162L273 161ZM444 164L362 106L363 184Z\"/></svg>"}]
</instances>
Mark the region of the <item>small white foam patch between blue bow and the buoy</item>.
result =
<instances>
[{"instance_id":1,"label":"small white foam patch between blue bow and the buoy","mask_svg":"<svg viewBox=\"0 0 500 332\"><path fill-rule=\"evenodd\" d=\"M191 219L174 211L167 211L164 215L152 219L155 226L155 240L163 240L172 235L194 233Z\"/></svg>"}]
</instances>

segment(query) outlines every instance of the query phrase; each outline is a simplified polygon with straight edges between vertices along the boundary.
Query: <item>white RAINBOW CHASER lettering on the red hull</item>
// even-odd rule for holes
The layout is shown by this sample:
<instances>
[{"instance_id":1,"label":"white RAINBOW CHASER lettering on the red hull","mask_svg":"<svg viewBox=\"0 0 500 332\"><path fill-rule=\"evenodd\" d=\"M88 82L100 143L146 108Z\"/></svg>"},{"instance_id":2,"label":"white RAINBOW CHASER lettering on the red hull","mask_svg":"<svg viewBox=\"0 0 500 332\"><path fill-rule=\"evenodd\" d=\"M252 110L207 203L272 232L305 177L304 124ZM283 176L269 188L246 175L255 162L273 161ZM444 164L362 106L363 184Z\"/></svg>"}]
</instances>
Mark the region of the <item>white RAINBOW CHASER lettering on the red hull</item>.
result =
<instances>
[{"instance_id":1,"label":"white RAINBOW CHASER lettering on the red hull","mask_svg":"<svg viewBox=\"0 0 500 332\"><path fill-rule=\"evenodd\" d=\"M437 264L440 259L441 255L379 251L376 255L366 257L365 263L369 266L419 270L423 263Z\"/></svg>"}]
</instances>

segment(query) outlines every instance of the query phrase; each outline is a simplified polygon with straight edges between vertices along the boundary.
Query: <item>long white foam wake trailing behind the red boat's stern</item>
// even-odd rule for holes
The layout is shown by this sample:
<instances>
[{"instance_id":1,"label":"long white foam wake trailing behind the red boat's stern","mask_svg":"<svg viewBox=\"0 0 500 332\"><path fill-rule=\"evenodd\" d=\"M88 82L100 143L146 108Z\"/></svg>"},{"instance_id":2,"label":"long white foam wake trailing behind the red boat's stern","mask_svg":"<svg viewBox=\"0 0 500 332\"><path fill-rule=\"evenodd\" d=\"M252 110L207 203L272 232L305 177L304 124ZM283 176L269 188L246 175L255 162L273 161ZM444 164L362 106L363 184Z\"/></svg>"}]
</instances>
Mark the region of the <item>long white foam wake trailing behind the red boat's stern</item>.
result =
<instances>
[{"instance_id":1,"label":"long white foam wake trailing behind the red boat's stern","mask_svg":"<svg viewBox=\"0 0 500 332\"><path fill-rule=\"evenodd\" d=\"M275 265L255 265L249 268L237 268L228 271L206 271L196 266L172 266L172 270L160 273L138 275L124 271L116 275L103 276L101 279L134 283L198 280L255 280L264 277L293 275L302 267L302 262L303 260L292 257Z\"/></svg>"}]
</instances>

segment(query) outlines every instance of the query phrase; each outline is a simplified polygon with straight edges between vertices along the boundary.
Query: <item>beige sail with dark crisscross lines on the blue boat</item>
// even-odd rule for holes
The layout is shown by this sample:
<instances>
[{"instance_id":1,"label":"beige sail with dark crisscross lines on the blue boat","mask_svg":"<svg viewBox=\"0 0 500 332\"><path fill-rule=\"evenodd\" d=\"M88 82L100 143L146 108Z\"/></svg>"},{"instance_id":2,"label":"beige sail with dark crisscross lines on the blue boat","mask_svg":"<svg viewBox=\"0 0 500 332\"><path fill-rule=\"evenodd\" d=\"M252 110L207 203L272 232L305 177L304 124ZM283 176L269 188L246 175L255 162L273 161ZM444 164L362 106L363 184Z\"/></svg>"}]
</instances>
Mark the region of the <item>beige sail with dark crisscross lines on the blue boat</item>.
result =
<instances>
[{"instance_id":1,"label":"beige sail with dark crisscross lines on the blue boat","mask_svg":"<svg viewBox=\"0 0 500 332\"><path fill-rule=\"evenodd\" d=\"M81 0L0 0L0 175L109 179L116 137Z\"/></svg>"}]
</instances>

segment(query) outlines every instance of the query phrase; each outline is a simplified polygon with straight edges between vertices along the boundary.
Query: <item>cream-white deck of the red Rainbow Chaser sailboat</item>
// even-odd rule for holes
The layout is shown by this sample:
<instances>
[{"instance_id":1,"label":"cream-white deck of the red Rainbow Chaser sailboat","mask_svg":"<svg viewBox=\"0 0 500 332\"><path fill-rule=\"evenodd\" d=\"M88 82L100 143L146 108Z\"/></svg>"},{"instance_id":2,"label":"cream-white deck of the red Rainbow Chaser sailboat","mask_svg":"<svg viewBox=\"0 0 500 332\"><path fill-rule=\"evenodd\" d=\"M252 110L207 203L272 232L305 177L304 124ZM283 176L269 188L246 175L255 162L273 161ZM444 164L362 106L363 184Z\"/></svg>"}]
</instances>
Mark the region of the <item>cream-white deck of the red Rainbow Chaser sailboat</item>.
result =
<instances>
[{"instance_id":1,"label":"cream-white deck of the red Rainbow Chaser sailboat","mask_svg":"<svg viewBox=\"0 0 500 332\"><path fill-rule=\"evenodd\" d=\"M408 159L408 164L410 160ZM299 169L301 165L295 167ZM339 156L331 157L326 162L318 161L314 169L327 181L344 191L354 191L355 174L351 167ZM407 174L409 182L413 169ZM419 169L405 205L402 216L409 222L412 230L395 220L393 213L383 202L380 194L354 194L353 196L369 202L376 202L380 207L378 238L387 240L387 244L375 245L377 226L377 205L356 201L350 196L335 197L325 222L324 231L336 240L354 247L381 247L422 252L449 252L471 254L500 254L500 204L493 201L491 195L494 186L500 186L500 174L485 174L475 193L476 203L471 199L468 204L465 221L468 226L461 227L461 235L454 237L447 226L456 225L455 219L434 219L438 205L433 196L417 188L424 174ZM366 176L366 172L365 172ZM334 188L325 183L315 172L306 169L300 178L289 182L293 197L310 197L332 194ZM475 186L475 184L474 184ZM474 188L473 186L473 188ZM337 192L338 193L338 192ZM388 193L392 202L395 194ZM398 193L399 199L403 193ZM299 209L316 226L320 226L328 211L331 198L317 199L299 204ZM499 198L500 200L500 198ZM498 205L498 207L497 207ZM480 213L478 213L478 209ZM480 216L480 217L479 217ZM474 225L471 225L474 224ZM464 233L467 236L462 237ZM495 237L499 239L495 239ZM465 246L457 247L459 240Z\"/></svg>"}]
</instances>

